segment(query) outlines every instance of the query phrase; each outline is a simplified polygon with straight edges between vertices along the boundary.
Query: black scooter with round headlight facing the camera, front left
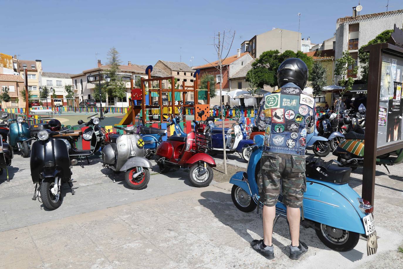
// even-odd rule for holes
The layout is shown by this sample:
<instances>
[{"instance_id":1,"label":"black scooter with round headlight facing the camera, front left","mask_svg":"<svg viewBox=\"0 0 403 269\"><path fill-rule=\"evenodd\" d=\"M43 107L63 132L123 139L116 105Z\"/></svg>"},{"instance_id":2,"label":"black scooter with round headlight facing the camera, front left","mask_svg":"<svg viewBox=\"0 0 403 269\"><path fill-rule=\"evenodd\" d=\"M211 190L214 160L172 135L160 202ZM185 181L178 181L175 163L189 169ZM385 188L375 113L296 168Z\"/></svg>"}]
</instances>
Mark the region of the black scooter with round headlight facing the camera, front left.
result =
<instances>
[{"instance_id":1,"label":"black scooter with round headlight facing the camera, front left","mask_svg":"<svg viewBox=\"0 0 403 269\"><path fill-rule=\"evenodd\" d=\"M29 139L36 140L31 145L31 177L36 184L32 200L40 198L46 209L54 210L62 204L62 184L69 184L72 194L74 190L71 183L73 179L71 179L69 150L61 139L53 138L53 136L74 131L52 132L42 128L41 125L32 125L31 132L37 131L37 133Z\"/></svg>"}]
</instances>

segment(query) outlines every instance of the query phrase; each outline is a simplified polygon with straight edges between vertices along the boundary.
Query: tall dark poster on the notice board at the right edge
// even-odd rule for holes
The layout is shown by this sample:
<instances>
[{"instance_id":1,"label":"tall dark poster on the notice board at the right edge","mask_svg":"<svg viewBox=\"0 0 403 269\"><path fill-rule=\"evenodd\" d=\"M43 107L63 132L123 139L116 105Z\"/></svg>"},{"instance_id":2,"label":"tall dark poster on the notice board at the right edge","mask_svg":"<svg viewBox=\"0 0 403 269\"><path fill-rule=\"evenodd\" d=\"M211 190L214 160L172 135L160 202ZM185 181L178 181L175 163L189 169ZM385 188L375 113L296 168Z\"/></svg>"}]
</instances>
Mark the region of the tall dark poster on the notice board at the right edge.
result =
<instances>
[{"instance_id":1,"label":"tall dark poster on the notice board at the right edge","mask_svg":"<svg viewBox=\"0 0 403 269\"><path fill-rule=\"evenodd\" d=\"M393 99L389 100L389 113L387 113L386 120L386 142L401 140L403 109L400 96L402 83L395 81L394 84Z\"/></svg>"}]
</instances>

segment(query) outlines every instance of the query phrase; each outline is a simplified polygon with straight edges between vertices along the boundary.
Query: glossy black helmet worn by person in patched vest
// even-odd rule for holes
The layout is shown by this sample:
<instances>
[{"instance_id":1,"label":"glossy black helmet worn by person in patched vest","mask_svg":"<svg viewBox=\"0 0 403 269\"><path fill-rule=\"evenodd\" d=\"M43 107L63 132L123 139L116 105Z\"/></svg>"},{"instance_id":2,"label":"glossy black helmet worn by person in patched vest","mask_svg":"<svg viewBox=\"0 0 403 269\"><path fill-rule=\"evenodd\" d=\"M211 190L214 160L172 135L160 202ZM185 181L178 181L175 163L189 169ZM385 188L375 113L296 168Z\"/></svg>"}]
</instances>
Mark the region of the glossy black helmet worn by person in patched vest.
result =
<instances>
[{"instance_id":1,"label":"glossy black helmet worn by person in patched vest","mask_svg":"<svg viewBox=\"0 0 403 269\"><path fill-rule=\"evenodd\" d=\"M293 82L303 90L307 80L308 67L299 58L289 58L278 67L277 81L279 87L283 87L285 83Z\"/></svg>"}]
</instances>

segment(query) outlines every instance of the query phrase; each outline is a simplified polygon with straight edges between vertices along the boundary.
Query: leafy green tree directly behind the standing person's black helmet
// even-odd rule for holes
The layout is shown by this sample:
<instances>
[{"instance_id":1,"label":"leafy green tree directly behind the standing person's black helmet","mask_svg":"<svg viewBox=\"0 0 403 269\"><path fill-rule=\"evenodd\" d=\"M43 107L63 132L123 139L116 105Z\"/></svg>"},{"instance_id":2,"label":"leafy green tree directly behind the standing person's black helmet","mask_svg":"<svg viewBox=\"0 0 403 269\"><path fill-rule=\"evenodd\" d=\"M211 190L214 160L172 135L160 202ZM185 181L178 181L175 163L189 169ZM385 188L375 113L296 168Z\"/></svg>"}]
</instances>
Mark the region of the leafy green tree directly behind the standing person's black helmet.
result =
<instances>
[{"instance_id":1,"label":"leafy green tree directly behind the standing person's black helmet","mask_svg":"<svg viewBox=\"0 0 403 269\"><path fill-rule=\"evenodd\" d=\"M288 58L300 58L305 62L309 73L311 73L314 59L307 54L301 51L293 52L292 50L286 50L280 54L278 50L268 50L263 52L252 63L251 70L246 74L246 81L256 81L258 88L263 88L264 85L278 86L277 69Z\"/></svg>"}]
</instances>

